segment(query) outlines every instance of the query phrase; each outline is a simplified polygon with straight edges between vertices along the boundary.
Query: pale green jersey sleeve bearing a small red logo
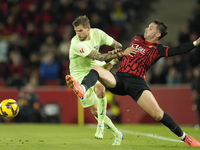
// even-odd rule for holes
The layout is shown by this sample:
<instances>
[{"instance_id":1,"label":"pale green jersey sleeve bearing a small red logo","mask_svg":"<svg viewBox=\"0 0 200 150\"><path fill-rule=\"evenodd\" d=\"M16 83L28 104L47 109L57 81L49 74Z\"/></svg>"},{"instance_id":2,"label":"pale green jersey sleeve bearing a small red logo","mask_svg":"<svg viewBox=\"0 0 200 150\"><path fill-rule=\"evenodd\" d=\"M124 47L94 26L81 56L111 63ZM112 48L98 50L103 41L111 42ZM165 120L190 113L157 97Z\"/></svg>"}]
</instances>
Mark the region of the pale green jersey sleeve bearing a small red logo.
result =
<instances>
[{"instance_id":1,"label":"pale green jersey sleeve bearing a small red logo","mask_svg":"<svg viewBox=\"0 0 200 150\"><path fill-rule=\"evenodd\" d=\"M86 57L92 51L85 43L73 44L71 48L73 49L74 54L81 57Z\"/></svg>"}]
</instances>

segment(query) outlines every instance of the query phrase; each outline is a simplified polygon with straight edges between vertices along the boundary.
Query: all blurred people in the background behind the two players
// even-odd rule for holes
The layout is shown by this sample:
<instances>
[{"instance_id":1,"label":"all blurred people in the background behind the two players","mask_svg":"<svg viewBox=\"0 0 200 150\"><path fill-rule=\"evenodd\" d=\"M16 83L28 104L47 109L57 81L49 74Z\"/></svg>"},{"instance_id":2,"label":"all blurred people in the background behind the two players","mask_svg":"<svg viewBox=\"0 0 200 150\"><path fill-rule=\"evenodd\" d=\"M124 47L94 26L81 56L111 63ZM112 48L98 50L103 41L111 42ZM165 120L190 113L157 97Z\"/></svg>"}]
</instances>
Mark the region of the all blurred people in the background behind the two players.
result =
<instances>
[{"instance_id":1,"label":"all blurred people in the background behind the two players","mask_svg":"<svg viewBox=\"0 0 200 150\"><path fill-rule=\"evenodd\" d=\"M145 18L141 14L151 10L148 7L152 2L156 0L0 0L0 86L20 89L21 113L16 121L37 120L34 118L38 118L40 106L35 87L66 85L70 40L75 35L72 22L76 17L87 15L91 27L104 30L123 44L123 40L132 40L133 26L139 26L138 20ZM197 0L196 8L180 29L179 44L200 37L199 18ZM108 50L106 46L101 48L102 53ZM199 58L200 47L181 56L162 58L149 70L147 82L169 86L192 83L197 104L194 109L199 110L200 120ZM113 96L108 104L108 115L120 122Z\"/></svg>"}]
</instances>

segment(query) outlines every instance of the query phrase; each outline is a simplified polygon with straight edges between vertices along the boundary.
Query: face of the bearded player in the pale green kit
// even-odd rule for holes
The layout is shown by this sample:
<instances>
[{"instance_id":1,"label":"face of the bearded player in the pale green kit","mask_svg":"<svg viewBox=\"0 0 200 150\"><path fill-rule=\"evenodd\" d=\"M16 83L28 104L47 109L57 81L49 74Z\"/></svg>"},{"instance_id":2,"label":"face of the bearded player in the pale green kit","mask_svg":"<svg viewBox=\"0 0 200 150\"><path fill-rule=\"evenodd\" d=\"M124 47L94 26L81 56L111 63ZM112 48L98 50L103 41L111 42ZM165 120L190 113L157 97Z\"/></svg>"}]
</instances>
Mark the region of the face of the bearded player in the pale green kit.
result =
<instances>
[{"instance_id":1,"label":"face of the bearded player in the pale green kit","mask_svg":"<svg viewBox=\"0 0 200 150\"><path fill-rule=\"evenodd\" d=\"M90 27L84 28L82 25L74 27L80 41L85 41L90 39Z\"/></svg>"}]
</instances>

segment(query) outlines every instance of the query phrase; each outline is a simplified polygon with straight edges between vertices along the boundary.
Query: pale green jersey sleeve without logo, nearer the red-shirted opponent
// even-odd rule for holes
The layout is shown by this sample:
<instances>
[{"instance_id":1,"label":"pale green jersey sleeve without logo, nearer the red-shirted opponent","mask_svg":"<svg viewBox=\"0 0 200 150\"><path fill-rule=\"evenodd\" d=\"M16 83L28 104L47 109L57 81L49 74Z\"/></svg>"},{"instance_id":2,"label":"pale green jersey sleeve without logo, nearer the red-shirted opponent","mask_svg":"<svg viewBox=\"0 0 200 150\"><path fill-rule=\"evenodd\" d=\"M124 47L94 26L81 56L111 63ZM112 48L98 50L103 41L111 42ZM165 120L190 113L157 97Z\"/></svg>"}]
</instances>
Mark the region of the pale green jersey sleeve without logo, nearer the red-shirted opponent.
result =
<instances>
[{"instance_id":1,"label":"pale green jersey sleeve without logo, nearer the red-shirted opponent","mask_svg":"<svg viewBox=\"0 0 200 150\"><path fill-rule=\"evenodd\" d=\"M99 36L101 38L101 45L111 46L114 39L111 36L109 36L108 34L106 34L104 31L99 30L99 29L96 29L96 30L98 31Z\"/></svg>"}]
</instances>

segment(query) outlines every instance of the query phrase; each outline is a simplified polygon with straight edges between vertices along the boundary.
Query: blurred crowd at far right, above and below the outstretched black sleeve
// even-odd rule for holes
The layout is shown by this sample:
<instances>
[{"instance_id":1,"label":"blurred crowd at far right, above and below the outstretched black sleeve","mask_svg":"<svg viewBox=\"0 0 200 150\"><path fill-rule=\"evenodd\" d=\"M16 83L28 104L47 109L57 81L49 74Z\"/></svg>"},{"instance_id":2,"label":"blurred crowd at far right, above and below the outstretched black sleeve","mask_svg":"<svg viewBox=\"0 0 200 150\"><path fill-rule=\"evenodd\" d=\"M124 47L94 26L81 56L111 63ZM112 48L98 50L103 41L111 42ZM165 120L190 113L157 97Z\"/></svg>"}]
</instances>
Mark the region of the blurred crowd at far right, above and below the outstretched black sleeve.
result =
<instances>
[{"instance_id":1,"label":"blurred crowd at far right, above and below the outstretched black sleeve","mask_svg":"<svg viewBox=\"0 0 200 150\"><path fill-rule=\"evenodd\" d=\"M190 17L180 27L178 44L195 41L200 37L200 0ZM170 43L164 43L173 46ZM169 58L162 58L155 64L149 72L149 84L167 84L169 86L179 84L190 84L194 78L196 67L200 67L200 47L195 48L189 53Z\"/></svg>"}]
</instances>

